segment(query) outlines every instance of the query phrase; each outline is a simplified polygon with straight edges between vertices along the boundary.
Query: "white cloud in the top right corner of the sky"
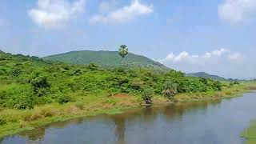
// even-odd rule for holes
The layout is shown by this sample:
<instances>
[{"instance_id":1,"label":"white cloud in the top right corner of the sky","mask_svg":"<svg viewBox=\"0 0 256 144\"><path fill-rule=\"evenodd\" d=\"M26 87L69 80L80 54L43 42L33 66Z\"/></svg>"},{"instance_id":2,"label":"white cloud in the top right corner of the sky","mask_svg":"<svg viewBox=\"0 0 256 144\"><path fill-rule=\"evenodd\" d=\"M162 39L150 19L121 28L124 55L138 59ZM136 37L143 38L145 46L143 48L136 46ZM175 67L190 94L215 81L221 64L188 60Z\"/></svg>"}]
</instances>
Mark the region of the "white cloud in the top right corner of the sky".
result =
<instances>
[{"instance_id":1,"label":"white cloud in the top right corner of the sky","mask_svg":"<svg viewBox=\"0 0 256 144\"><path fill-rule=\"evenodd\" d=\"M218 6L219 18L230 23L242 22L255 14L255 0L225 0Z\"/></svg>"}]
</instances>

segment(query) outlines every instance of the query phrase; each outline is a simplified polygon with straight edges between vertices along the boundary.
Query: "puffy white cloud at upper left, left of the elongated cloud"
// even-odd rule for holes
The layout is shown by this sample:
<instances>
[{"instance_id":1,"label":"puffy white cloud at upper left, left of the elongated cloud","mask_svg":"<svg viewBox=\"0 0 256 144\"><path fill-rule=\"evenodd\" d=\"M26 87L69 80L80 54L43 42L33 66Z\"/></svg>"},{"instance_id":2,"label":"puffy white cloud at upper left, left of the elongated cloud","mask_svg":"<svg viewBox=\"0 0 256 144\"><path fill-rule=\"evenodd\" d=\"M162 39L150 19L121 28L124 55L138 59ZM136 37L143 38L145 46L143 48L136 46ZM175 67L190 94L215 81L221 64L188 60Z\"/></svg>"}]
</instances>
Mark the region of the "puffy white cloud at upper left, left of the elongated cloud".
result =
<instances>
[{"instance_id":1,"label":"puffy white cloud at upper left, left of the elongated cloud","mask_svg":"<svg viewBox=\"0 0 256 144\"><path fill-rule=\"evenodd\" d=\"M38 6L28 10L28 15L35 24L44 28L65 26L67 22L81 14L85 0L38 0Z\"/></svg>"}]
</instances>

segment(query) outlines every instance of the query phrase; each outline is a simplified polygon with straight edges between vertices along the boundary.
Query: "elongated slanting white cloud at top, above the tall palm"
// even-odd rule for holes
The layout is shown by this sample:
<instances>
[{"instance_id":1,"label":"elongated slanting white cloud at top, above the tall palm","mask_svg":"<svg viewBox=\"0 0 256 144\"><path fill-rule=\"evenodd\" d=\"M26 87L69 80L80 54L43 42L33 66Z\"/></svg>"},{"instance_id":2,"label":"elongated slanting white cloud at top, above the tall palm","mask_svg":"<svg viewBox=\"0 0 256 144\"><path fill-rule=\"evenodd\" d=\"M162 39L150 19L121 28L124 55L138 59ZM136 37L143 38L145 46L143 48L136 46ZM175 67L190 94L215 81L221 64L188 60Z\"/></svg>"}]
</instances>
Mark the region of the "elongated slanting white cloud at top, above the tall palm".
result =
<instances>
[{"instance_id":1,"label":"elongated slanting white cloud at top, above the tall palm","mask_svg":"<svg viewBox=\"0 0 256 144\"><path fill-rule=\"evenodd\" d=\"M103 6L104 7L104 6ZM105 7L107 5L105 4ZM111 10L107 14L96 14L90 18L90 23L110 23L110 22L128 22L139 16L150 14L153 12L153 5L147 6L138 0L132 0L130 6L124 6L117 10Z\"/></svg>"}]
</instances>

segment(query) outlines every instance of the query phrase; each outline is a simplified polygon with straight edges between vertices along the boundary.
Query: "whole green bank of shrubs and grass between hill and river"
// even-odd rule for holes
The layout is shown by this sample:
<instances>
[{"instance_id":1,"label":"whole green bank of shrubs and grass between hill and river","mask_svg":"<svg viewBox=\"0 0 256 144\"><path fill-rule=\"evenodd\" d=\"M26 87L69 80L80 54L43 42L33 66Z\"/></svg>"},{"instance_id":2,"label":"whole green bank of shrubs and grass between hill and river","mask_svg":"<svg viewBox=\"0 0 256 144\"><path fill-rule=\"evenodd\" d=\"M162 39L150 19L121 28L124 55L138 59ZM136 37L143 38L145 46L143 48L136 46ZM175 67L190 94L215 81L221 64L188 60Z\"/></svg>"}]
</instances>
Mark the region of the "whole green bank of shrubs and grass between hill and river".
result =
<instances>
[{"instance_id":1,"label":"whole green bank of shrubs and grass between hill and river","mask_svg":"<svg viewBox=\"0 0 256 144\"><path fill-rule=\"evenodd\" d=\"M0 51L0 138L66 118L221 98L243 89L234 82L185 77L180 71L119 64L74 65Z\"/></svg>"}]
</instances>

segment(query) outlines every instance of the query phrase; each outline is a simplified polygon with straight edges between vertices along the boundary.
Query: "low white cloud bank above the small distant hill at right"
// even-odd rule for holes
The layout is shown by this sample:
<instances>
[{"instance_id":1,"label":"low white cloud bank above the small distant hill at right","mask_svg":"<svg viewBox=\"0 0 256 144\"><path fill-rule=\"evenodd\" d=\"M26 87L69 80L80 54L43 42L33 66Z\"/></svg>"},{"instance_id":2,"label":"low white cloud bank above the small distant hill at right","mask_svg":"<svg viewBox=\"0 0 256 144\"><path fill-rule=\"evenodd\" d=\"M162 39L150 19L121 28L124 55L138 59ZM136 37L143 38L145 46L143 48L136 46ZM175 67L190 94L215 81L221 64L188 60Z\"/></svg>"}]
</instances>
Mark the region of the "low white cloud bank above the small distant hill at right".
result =
<instances>
[{"instance_id":1,"label":"low white cloud bank above the small distant hill at right","mask_svg":"<svg viewBox=\"0 0 256 144\"><path fill-rule=\"evenodd\" d=\"M186 51L170 53L158 62L186 73L206 71L226 78L238 78L244 74L244 59L243 54L222 48L205 54L190 54Z\"/></svg>"}]
</instances>

